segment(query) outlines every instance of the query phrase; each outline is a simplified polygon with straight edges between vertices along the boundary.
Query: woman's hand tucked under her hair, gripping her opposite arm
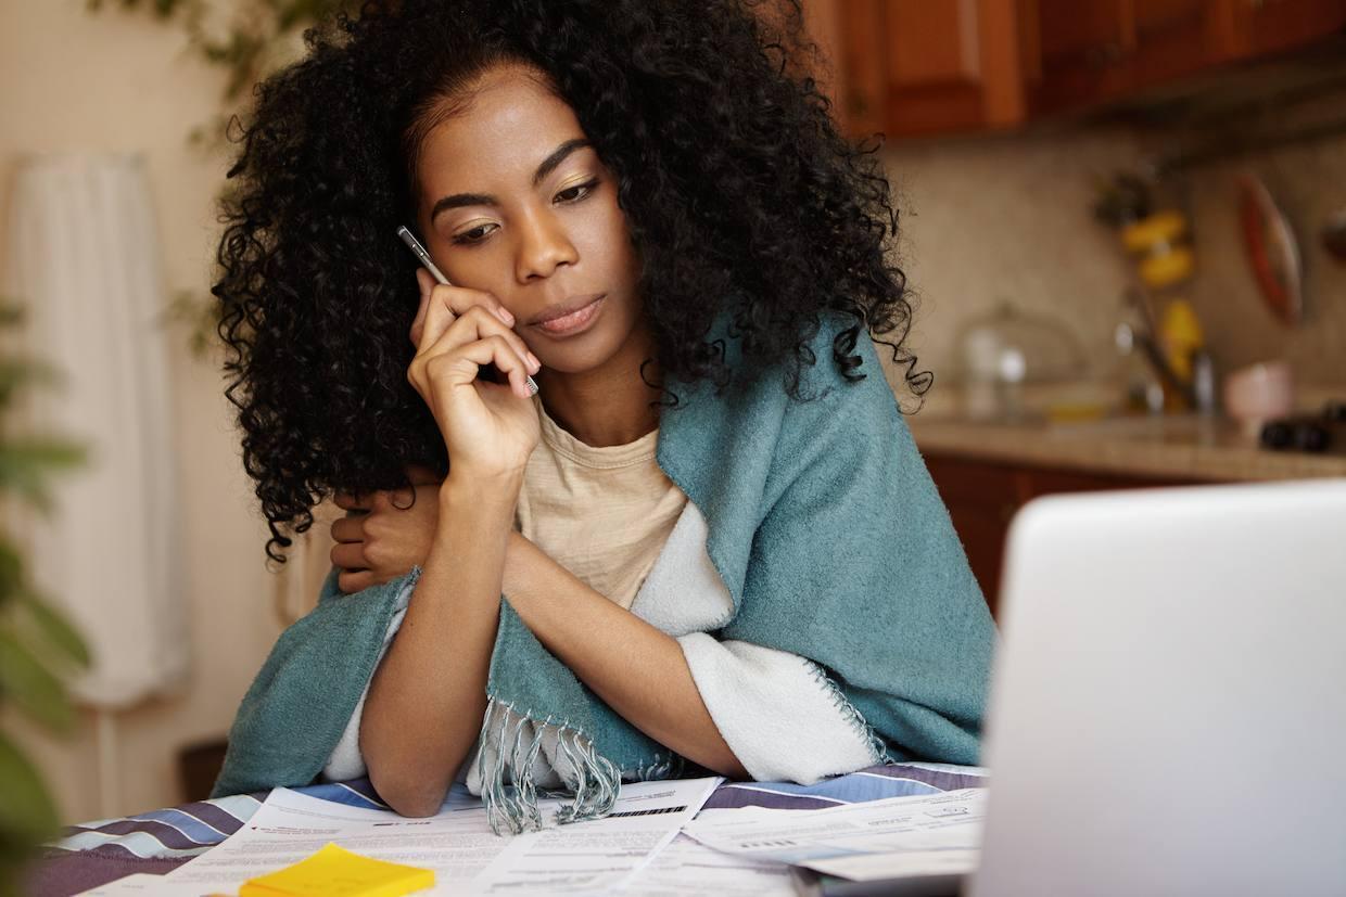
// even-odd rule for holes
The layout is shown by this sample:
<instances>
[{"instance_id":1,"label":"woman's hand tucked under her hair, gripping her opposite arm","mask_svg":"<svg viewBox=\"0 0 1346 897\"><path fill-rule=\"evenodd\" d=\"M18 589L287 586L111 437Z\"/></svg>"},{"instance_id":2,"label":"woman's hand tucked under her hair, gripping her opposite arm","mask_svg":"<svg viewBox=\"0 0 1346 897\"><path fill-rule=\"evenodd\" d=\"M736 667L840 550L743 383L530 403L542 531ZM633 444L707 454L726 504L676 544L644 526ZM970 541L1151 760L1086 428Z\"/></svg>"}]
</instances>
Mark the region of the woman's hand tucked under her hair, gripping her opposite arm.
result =
<instances>
[{"instance_id":1,"label":"woman's hand tucked under her hair, gripping her opposite arm","mask_svg":"<svg viewBox=\"0 0 1346 897\"><path fill-rule=\"evenodd\" d=\"M332 522L336 545L331 561L341 568L336 588L342 592L351 594L392 582L425 563L439 523L441 479L419 465L406 468L406 473L409 490L336 494L335 504L346 510L346 516Z\"/></svg>"}]
</instances>

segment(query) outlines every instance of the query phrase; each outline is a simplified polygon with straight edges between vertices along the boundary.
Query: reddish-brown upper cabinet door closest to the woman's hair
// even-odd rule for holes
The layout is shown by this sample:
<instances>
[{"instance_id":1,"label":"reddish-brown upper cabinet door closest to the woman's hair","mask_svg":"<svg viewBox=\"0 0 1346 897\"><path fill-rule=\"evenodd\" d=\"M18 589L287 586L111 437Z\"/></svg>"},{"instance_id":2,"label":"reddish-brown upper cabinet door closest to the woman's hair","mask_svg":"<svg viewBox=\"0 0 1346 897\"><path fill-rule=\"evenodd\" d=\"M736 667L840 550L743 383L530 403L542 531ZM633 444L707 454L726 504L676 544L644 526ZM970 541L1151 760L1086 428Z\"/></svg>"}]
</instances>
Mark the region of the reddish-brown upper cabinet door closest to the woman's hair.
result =
<instances>
[{"instance_id":1,"label":"reddish-brown upper cabinet door closest to the woman's hair","mask_svg":"<svg viewBox=\"0 0 1346 897\"><path fill-rule=\"evenodd\" d=\"M837 0L837 9L855 137L1023 121L1016 0Z\"/></svg>"}]
</instances>

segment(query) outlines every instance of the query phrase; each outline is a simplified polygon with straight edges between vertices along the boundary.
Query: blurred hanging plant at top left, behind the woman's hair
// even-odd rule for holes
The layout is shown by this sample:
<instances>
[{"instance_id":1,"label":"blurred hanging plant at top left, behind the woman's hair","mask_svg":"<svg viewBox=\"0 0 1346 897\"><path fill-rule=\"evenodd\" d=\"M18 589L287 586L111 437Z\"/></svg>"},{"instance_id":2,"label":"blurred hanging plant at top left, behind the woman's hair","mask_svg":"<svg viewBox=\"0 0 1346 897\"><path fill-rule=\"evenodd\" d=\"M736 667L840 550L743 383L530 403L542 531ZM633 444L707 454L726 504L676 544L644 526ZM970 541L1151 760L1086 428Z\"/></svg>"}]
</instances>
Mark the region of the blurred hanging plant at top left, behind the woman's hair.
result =
<instances>
[{"instance_id":1,"label":"blurred hanging plant at top left, behind the woman's hair","mask_svg":"<svg viewBox=\"0 0 1346 897\"><path fill-rule=\"evenodd\" d=\"M339 11L354 11L359 1L85 0L90 12L105 5L132 12L148 9L155 19L182 27L198 56L226 70L221 109L187 133L190 145L211 153L226 147L234 117L246 121L252 86L297 58L302 44L296 38ZM219 198L227 190L226 182ZM217 339L218 307L207 292L178 290L160 320L187 325L188 347L197 358L203 358Z\"/></svg>"}]
</instances>

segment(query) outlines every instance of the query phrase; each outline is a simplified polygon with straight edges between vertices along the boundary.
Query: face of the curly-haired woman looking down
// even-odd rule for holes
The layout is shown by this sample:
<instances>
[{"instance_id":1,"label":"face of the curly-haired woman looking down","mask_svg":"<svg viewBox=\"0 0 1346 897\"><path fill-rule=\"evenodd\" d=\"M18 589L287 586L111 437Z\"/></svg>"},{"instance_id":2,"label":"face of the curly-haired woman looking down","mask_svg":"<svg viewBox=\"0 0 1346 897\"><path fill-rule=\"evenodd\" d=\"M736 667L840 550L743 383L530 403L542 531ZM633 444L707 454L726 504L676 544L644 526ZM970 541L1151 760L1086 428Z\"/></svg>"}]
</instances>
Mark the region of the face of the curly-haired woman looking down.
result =
<instances>
[{"instance_id":1,"label":"face of the curly-haired woman looking down","mask_svg":"<svg viewBox=\"0 0 1346 897\"><path fill-rule=\"evenodd\" d=\"M425 137L417 223L450 282L493 293L544 370L598 367L641 319L639 262L616 183L573 110L528 69L502 66ZM553 335L540 315L604 296L583 332Z\"/></svg>"}]
</instances>

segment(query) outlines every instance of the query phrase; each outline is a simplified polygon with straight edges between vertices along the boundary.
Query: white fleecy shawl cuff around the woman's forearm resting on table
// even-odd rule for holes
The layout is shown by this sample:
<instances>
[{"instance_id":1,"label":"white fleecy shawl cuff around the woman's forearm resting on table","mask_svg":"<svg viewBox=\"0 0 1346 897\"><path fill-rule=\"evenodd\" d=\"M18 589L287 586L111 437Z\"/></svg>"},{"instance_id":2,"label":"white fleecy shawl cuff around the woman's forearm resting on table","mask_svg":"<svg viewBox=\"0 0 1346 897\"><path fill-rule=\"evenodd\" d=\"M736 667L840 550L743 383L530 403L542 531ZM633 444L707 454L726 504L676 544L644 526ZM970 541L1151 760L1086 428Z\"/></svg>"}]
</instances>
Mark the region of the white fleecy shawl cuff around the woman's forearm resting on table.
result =
<instances>
[{"instance_id":1,"label":"white fleecy shawl cuff around the woman's forearm resting on table","mask_svg":"<svg viewBox=\"0 0 1346 897\"><path fill-rule=\"evenodd\" d=\"M754 780L808 785L886 760L860 713L812 660L705 632L678 644L711 719Z\"/></svg>"}]
</instances>

